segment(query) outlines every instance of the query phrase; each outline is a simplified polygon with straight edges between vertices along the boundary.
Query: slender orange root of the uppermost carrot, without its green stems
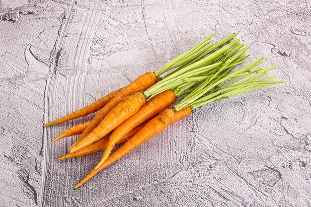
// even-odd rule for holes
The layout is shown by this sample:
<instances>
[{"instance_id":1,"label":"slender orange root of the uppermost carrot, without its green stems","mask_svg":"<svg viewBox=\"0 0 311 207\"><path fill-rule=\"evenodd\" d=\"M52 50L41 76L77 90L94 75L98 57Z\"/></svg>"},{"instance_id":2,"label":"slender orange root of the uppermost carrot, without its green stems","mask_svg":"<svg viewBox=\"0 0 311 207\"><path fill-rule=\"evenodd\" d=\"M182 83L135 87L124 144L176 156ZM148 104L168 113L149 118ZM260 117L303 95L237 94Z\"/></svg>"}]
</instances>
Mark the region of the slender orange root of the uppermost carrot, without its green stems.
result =
<instances>
[{"instance_id":1,"label":"slender orange root of the uppermost carrot, without its green stems","mask_svg":"<svg viewBox=\"0 0 311 207\"><path fill-rule=\"evenodd\" d=\"M91 124L84 130L80 138L72 145L76 145L80 140L85 138L89 133L91 133L99 123L106 117L106 115L116 106L118 103L122 101L123 98L138 92L145 91L151 86L153 86L157 81L157 77L153 72L147 72L138 78L136 78L129 85L124 87L118 95L116 95L109 103L107 103L101 110L97 112L94 119L91 121ZM70 147L70 149L72 148Z\"/></svg>"}]
</instances>

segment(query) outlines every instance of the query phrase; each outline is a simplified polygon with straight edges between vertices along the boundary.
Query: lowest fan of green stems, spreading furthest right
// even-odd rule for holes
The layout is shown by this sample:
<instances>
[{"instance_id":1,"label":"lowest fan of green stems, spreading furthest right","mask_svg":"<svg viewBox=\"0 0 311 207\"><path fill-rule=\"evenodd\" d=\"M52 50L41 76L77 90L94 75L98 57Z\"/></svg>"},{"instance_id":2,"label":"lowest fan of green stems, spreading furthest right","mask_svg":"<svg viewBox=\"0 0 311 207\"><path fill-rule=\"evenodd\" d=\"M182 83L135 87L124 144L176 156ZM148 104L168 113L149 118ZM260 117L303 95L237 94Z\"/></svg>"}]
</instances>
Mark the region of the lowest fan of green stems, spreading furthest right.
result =
<instances>
[{"instance_id":1,"label":"lowest fan of green stems, spreading furthest right","mask_svg":"<svg viewBox=\"0 0 311 207\"><path fill-rule=\"evenodd\" d=\"M199 81L206 79L205 81L207 84L202 83L194 89L187 89L187 92L190 92L190 94L181 102L176 104L174 106L174 110L179 111L187 106L191 106L192 110L194 110L212 101L218 101L228 98L229 96L245 93L260 87L283 83L283 81L269 81L274 79L276 77L275 75L261 79L267 71L276 69L276 66L266 69L253 69L254 67L260 65L263 59L264 57L230 74L223 73L222 75L214 75L214 78L210 81L209 79L212 76L209 79L206 79L207 77L205 76L186 78L186 81ZM224 63L224 65L228 64L228 62L230 62L230 59L227 63ZM233 82L233 80L236 80L238 77L242 78Z\"/></svg>"}]
</instances>

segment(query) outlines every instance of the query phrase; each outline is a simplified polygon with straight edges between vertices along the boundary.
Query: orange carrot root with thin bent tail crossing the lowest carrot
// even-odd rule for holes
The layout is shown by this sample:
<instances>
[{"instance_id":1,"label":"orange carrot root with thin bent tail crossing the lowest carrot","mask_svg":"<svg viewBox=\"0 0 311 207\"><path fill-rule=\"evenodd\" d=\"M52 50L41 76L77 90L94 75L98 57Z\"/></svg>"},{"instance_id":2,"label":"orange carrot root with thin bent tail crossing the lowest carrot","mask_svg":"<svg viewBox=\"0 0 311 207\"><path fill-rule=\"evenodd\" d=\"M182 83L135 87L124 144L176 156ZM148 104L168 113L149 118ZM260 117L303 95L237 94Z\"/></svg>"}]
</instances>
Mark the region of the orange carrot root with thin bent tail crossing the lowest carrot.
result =
<instances>
[{"instance_id":1,"label":"orange carrot root with thin bent tail crossing the lowest carrot","mask_svg":"<svg viewBox=\"0 0 311 207\"><path fill-rule=\"evenodd\" d=\"M159 112L170 106L176 99L174 91L171 89L165 90L157 94L154 98L146 102L136 114L125 120L119 125L109 137L109 142L105 149L104 155L96 166L99 167L108 158L114 145L126 134L131 132L133 128L140 125L147 119L156 116Z\"/></svg>"}]
</instances>

